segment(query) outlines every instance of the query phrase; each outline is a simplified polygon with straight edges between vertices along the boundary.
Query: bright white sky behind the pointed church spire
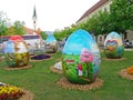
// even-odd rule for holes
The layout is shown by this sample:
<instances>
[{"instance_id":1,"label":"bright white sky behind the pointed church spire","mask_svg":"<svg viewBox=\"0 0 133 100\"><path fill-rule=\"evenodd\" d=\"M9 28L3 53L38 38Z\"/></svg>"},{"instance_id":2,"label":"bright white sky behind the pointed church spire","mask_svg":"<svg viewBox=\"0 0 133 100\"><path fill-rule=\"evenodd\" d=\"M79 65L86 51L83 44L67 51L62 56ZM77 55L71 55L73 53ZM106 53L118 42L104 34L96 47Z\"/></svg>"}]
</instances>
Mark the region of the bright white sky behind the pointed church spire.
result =
<instances>
[{"instance_id":1,"label":"bright white sky behind the pointed church spire","mask_svg":"<svg viewBox=\"0 0 133 100\"><path fill-rule=\"evenodd\" d=\"M35 6L38 28L43 31L61 30L75 23L81 16L99 0L0 0L0 11L7 13L11 22L24 21L33 29Z\"/></svg>"}]
</instances>

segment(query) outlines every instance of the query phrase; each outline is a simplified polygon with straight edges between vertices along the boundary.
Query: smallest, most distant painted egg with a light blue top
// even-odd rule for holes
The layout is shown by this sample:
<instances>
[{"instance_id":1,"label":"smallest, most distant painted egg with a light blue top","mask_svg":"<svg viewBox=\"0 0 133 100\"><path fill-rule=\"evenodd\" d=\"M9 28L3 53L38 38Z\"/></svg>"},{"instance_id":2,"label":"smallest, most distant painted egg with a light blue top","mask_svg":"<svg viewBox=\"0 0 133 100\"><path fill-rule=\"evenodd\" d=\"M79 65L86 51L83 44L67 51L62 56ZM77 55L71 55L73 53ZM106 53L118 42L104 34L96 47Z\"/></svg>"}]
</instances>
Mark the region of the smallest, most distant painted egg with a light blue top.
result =
<instances>
[{"instance_id":1,"label":"smallest, most distant painted egg with a light blue top","mask_svg":"<svg viewBox=\"0 0 133 100\"><path fill-rule=\"evenodd\" d=\"M58 50L58 42L57 42L57 39L50 34L47 37L47 40L45 40L45 51L47 52L55 52Z\"/></svg>"}]
</instances>

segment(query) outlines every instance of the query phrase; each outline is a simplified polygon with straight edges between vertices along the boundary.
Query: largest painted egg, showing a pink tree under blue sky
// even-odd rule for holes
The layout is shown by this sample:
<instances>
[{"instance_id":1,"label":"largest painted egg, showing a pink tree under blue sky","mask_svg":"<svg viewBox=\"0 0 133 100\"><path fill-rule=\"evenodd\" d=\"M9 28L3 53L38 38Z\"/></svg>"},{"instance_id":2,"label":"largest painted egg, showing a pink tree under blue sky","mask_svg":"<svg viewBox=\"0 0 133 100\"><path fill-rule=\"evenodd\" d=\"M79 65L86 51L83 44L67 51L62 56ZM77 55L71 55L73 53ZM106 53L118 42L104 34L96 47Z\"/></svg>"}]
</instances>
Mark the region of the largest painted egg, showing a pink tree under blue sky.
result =
<instances>
[{"instance_id":1,"label":"largest painted egg, showing a pink tree under blue sky","mask_svg":"<svg viewBox=\"0 0 133 100\"><path fill-rule=\"evenodd\" d=\"M79 29L68 38L62 51L62 70L70 82L93 82L100 62L98 44L88 31Z\"/></svg>"}]
</instances>

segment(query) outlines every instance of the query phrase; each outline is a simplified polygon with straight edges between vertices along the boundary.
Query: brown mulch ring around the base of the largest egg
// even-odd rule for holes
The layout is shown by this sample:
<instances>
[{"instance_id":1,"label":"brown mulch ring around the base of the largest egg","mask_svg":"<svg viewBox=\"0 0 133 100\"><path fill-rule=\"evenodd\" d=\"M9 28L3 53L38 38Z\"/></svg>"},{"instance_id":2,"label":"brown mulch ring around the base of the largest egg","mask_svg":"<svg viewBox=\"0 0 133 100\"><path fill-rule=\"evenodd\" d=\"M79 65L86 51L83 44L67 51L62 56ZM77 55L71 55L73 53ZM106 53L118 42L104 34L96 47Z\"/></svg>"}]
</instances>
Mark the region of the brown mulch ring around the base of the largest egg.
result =
<instances>
[{"instance_id":1,"label":"brown mulch ring around the base of the largest egg","mask_svg":"<svg viewBox=\"0 0 133 100\"><path fill-rule=\"evenodd\" d=\"M103 80L96 78L94 82L89 83L89 84L75 84L75 83L71 83L66 80L66 78L61 78L58 82L58 86L64 88L64 89L75 89L75 90L83 90L83 91L88 91L88 90L94 90L94 89L99 89L100 87L103 86Z\"/></svg>"}]
</instances>

